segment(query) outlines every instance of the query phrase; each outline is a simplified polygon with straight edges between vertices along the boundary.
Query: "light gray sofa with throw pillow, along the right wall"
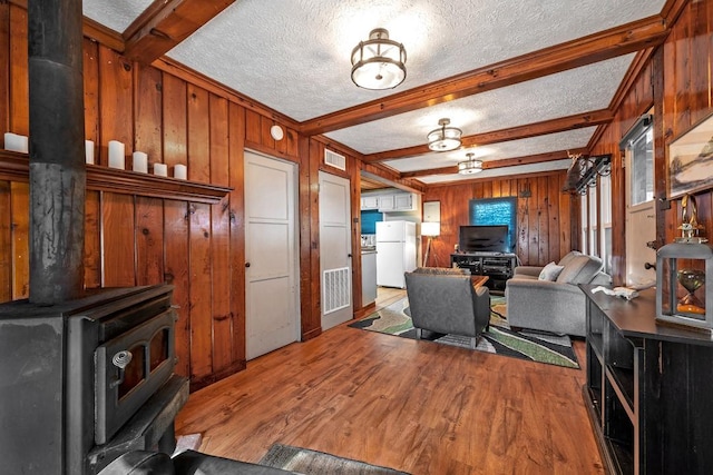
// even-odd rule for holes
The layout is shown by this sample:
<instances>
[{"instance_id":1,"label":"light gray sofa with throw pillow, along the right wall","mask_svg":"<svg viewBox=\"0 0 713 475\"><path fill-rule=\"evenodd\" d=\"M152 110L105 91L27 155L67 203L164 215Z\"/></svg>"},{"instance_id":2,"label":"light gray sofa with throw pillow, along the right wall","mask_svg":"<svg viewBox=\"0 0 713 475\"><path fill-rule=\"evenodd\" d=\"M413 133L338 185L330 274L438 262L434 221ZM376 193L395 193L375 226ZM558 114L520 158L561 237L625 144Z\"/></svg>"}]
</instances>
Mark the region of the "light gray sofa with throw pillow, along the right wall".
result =
<instances>
[{"instance_id":1,"label":"light gray sofa with throw pillow, along the right wall","mask_svg":"<svg viewBox=\"0 0 713 475\"><path fill-rule=\"evenodd\" d=\"M576 250L563 257L557 266L548 265L550 274L543 278L544 267L515 268L505 287L511 327L586 335L585 296L577 285L611 285L612 278L602 271L602 259Z\"/></svg>"}]
</instances>

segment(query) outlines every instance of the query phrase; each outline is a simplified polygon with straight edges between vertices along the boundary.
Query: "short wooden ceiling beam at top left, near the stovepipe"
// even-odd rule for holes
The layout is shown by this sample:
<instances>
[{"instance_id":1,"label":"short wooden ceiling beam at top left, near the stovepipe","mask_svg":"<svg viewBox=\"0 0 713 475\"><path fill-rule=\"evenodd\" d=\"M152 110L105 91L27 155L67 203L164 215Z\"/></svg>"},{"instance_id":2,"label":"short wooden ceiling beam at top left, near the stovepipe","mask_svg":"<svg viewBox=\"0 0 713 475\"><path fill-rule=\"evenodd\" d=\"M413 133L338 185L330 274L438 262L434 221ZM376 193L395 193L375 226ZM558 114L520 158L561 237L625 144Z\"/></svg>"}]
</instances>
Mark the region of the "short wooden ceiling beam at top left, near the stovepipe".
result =
<instances>
[{"instance_id":1,"label":"short wooden ceiling beam at top left, near the stovepipe","mask_svg":"<svg viewBox=\"0 0 713 475\"><path fill-rule=\"evenodd\" d=\"M124 55L150 65L235 0L154 0L124 31Z\"/></svg>"}]
</instances>

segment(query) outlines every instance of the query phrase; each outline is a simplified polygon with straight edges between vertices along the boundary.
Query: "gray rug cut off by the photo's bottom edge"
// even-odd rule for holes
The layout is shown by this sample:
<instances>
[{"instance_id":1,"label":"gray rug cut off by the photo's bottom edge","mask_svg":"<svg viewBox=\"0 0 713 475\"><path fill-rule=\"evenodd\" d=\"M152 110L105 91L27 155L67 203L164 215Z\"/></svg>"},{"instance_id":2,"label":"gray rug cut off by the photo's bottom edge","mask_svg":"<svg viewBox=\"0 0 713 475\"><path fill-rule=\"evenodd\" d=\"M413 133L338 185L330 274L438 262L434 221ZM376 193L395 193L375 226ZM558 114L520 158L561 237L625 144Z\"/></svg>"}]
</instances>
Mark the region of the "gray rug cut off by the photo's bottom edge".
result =
<instances>
[{"instance_id":1,"label":"gray rug cut off by the photo's bottom edge","mask_svg":"<svg viewBox=\"0 0 713 475\"><path fill-rule=\"evenodd\" d=\"M297 472L305 475L409 475L406 472L342 458L323 452L274 444L260 459L260 465Z\"/></svg>"}]
</instances>

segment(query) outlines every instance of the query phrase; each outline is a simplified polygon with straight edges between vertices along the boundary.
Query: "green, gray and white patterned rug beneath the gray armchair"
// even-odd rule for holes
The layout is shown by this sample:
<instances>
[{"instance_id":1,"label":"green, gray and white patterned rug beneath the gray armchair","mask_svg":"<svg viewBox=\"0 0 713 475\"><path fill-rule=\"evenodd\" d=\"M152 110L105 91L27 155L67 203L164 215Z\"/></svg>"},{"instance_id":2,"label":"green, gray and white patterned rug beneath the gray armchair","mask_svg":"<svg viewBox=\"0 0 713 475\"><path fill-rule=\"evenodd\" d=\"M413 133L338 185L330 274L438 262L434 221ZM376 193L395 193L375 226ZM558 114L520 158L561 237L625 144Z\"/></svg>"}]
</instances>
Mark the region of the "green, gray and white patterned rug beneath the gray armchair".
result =
<instances>
[{"instance_id":1,"label":"green, gray and white patterned rug beneath the gray armchair","mask_svg":"<svg viewBox=\"0 0 713 475\"><path fill-rule=\"evenodd\" d=\"M490 328L478 340L476 350L568 368L579 368L577 355L567 335L554 335L535 330L515 331L510 329L507 323L505 297L491 297L490 306L492 310L490 314ZM349 326L416 339L416 329L409 313L409 300L406 297ZM459 335L443 335L423 330L422 338L442 345L470 348L470 338Z\"/></svg>"}]
</instances>

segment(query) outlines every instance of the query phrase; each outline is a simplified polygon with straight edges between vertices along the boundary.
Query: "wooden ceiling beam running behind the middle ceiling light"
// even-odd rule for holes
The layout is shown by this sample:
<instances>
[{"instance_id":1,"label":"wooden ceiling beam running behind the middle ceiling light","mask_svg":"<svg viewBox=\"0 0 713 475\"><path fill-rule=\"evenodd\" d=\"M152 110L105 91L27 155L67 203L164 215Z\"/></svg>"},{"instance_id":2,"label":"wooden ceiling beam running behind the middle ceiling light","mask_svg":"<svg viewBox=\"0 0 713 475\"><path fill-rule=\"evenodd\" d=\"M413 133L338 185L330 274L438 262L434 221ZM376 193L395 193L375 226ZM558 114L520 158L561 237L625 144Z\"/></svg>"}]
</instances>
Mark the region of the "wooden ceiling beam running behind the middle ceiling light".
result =
<instances>
[{"instance_id":1,"label":"wooden ceiling beam running behind the middle ceiling light","mask_svg":"<svg viewBox=\"0 0 713 475\"><path fill-rule=\"evenodd\" d=\"M547 133L564 132L567 130L580 129L583 127L599 126L614 120L614 112L609 109L593 110L583 113L575 113L568 117L544 120L541 122L527 123L524 126L510 127L508 129L494 130L490 132L476 133L461 139L460 148L500 144L509 140L519 140L530 137L544 136ZM380 151L365 155L363 161L374 162L393 160L397 158L416 157L419 155L433 154L428 145L419 145L394 150Z\"/></svg>"}]
</instances>

